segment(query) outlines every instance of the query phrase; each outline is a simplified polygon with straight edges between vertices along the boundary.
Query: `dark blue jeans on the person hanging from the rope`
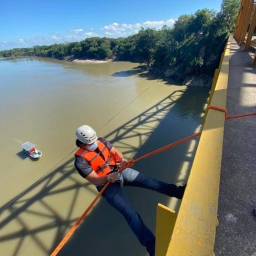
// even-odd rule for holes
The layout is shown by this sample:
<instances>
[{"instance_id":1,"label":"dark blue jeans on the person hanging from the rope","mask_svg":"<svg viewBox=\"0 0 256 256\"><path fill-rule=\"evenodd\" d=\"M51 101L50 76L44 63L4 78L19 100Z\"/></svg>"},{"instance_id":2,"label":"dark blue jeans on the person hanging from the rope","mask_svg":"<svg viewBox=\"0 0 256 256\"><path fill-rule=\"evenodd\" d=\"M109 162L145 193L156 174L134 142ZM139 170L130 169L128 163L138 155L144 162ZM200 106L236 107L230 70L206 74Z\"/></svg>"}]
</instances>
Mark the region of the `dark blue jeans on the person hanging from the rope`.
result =
<instances>
[{"instance_id":1,"label":"dark blue jeans on the person hanging from the rope","mask_svg":"<svg viewBox=\"0 0 256 256\"><path fill-rule=\"evenodd\" d=\"M180 188L174 184L164 183L163 181L147 177L146 175L141 174L141 172L131 168L126 168L118 174L117 181L110 183L104 193L102 193L102 196L105 197L108 203L125 217L139 242L143 246L146 246L150 256L154 256L155 236L147 228L142 221L141 216L139 216L133 205L131 205L130 201L127 199L125 193L122 191L122 185L147 188L167 196L182 198ZM97 186L97 190L100 191L102 187L104 186Z\"/></svg>"}]
</instances>

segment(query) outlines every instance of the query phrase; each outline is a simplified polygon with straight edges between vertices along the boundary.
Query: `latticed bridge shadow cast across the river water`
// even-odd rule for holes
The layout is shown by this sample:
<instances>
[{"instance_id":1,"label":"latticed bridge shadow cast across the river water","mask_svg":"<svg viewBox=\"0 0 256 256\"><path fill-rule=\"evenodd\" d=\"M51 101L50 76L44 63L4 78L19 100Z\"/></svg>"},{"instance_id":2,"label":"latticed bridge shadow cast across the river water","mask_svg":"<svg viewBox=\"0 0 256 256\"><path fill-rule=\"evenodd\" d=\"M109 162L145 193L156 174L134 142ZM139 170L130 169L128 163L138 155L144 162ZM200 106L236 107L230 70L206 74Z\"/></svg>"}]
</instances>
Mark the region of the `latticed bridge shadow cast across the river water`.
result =
<instances>
[{"instance_id":1,"label":"latticed bridge shadow cast across the river water","mask_svg":"<svg viewBox=\"0 0 256 256\"><path fill-rule=\"evenodd\" d=\"M124 152L127 158L136 159L147 152L199 131L208 94L208 88L176 90L158 104L106 135L105 138ZM196 152L197 141L198 139L180 144L141 160L135 164L134 168L168 183L185 184ZM10 200L1 207L1 209L7 208L1 213L0 229L5 229L14 223L18 228L11 233L5 232L4 235L3 233L0 235L0 247L15 241L11 255L23 255L23 243L29 237L35 244L33 247L39 248L40 255L49 255L80 217L71 217L73 208L83 204L81 200L77 200L77 195L82 193L86 197L88 189L90 193L97 195L96 189L88 185L88 182L76 173L73 159L49 172L34 186L23 191L14 203ZM176 210L179 208L179 200L170 199L156 192L132 187L123 189L153 233L155 233L157 203L166 205L171 203ZM33 193L32 196L31 193ZM69 205L69 210L63 217L60 210L54 207L54 203L51 204L52 202L48 200L58 200L67 193L69 196L65 204ZM42 211L34 210L34 204L39 204ZM86 207L88 205L84 205L84 209ZM44 221L36 225L36 221L33 220L34 227L29 219L22 217L24 213L32 216L32 219L43 218ZM45 232L50 232L53 239L47 239ZM121 214L101 199L58 255L144 256L147 253L138 243Z\"/></svg>"}]
</instances>

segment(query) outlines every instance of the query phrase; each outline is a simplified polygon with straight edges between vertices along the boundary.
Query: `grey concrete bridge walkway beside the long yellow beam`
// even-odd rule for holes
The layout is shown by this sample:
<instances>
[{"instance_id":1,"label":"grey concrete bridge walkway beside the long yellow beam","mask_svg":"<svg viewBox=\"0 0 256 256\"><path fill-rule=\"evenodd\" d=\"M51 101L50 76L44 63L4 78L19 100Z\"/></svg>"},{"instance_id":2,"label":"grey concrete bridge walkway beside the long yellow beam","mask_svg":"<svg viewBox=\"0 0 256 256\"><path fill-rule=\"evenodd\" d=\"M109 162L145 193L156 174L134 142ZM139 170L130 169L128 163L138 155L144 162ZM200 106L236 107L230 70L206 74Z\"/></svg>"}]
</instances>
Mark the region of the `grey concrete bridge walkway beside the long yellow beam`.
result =
<instances>
[{"instance_id":1,"label":"grey concrete bridge walkway beside the long yellow beam","mask_svg":"<svg viewBox=\"0 0 256 256\"><path fill-rule=\"evenodd\" d=\"M256 112L254 53L230 41L228 115ZM225 122L216 255L256 256L256 117Z\"/></svg>"}]
</instances>

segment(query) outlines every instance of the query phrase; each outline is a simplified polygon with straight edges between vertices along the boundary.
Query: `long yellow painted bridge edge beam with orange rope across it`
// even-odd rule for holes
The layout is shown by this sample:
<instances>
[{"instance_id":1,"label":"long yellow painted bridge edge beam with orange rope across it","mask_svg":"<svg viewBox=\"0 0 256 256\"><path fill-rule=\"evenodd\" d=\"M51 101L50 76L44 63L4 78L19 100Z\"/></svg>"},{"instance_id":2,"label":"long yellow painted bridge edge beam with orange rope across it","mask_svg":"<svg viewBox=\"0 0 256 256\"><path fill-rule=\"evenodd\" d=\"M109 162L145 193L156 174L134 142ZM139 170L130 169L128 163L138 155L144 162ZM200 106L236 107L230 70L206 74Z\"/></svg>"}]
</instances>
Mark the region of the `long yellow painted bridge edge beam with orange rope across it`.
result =
<instances>
[{"instance_id":1,"label":"long yellow painted bridge edge beam with orange rope across it","mask_svg":"<svg viewBox=\"0 0 256 256\"><path fill-rule=\"evenodd\" d=\"M226 107L228 73L229 46L220 67L212 105ZM208 110L167 256L213 255L224 121L224 113ZM159 239L161 237L157 237Z\"/></svg>"}]
</instances>

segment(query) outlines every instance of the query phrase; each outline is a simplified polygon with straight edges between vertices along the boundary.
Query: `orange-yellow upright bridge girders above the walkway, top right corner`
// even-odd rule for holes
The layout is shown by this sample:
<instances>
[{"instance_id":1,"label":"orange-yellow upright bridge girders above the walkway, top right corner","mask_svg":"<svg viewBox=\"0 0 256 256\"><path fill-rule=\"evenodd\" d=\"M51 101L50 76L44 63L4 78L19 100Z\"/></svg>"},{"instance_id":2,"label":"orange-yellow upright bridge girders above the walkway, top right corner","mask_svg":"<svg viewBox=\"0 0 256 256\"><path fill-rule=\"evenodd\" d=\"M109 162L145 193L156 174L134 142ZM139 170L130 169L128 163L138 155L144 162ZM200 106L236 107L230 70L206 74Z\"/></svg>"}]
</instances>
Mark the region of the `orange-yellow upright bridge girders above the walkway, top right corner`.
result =
<instances>
[{"instance_id":1,"label":"orange-yellow upright bridge girders above the walkway, top right corner","mask_svg":"<svg viewBox=\"0 0 256 256\"><path fill-rule=\"evenodd\" d=\"M242 46L243 51L248 51L250 46L255 47L255 42L252 42L253 33L256 27L256 4L254 0L242 0L239 11L234 38L237 43ZM247 35L247 36L246 36ZM256 65L256 53L253 64Z\"/></svg>"}]
</instances>

